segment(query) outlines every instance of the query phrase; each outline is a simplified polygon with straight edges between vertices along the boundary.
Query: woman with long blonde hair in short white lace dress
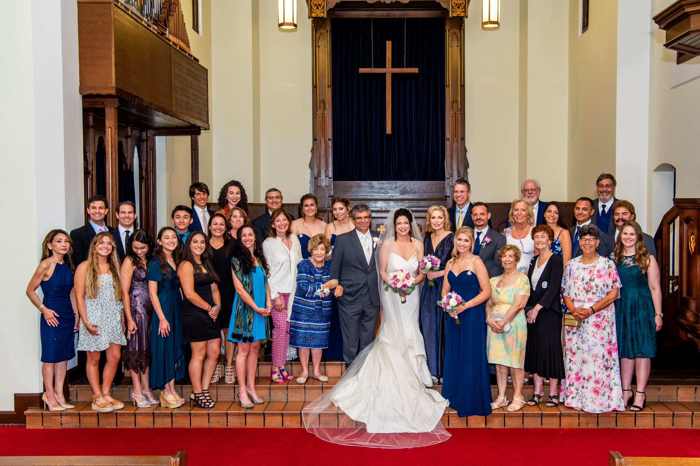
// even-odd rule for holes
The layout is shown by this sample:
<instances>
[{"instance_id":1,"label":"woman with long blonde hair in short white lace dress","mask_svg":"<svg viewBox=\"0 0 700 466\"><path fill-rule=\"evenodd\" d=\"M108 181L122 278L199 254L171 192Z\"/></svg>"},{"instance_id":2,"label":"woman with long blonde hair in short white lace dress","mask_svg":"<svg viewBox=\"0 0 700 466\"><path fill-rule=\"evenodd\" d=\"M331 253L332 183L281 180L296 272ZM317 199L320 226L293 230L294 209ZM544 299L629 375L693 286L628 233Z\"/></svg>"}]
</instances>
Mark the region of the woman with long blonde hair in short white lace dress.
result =
<instances>
[{"instance_id":1,"label":"woman with long blonde hair in short white lace dress","mask_svg":"<svg viewBox=\"0 0 700 466\"><path fill-rule=\"evenodd\" d=\"M76 304L80 314L78 351L87 351L85 373L92 388L92 409L111 412L124 403L109 395L117 371L121 347L127 344L119 258L111 233L97 233L90 243L87 261L78 265L75 278ZM99 385L99 355L106 352L107 363Z\"/></svg>"}]
</instances>

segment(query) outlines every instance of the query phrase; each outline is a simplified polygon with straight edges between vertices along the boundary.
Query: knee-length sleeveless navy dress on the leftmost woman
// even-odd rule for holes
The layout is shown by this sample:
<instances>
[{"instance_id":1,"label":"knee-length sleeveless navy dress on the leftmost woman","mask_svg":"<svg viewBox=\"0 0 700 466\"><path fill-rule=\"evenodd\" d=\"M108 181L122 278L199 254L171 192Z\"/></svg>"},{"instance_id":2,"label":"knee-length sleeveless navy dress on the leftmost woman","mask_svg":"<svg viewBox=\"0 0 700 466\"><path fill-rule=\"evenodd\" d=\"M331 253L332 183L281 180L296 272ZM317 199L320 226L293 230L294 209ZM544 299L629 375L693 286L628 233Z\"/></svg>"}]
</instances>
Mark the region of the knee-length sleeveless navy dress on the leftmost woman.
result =
<instances>
[{"instance_id":1,"label":"knee-length sleeveless navy dress on the leftmost woman","mask_svg":"<svg viewBox=\"0 0 700 466\"><path fill-rule=\"evenodd\" d=\"M48 280L41 282L43 304L58 314L58 326L52 327L41 316L41 362L62 363L76 356L73 329L76 316L71 305L73 291L73 270L66 263L56 263Z\"/></svg>"}]
</instances>

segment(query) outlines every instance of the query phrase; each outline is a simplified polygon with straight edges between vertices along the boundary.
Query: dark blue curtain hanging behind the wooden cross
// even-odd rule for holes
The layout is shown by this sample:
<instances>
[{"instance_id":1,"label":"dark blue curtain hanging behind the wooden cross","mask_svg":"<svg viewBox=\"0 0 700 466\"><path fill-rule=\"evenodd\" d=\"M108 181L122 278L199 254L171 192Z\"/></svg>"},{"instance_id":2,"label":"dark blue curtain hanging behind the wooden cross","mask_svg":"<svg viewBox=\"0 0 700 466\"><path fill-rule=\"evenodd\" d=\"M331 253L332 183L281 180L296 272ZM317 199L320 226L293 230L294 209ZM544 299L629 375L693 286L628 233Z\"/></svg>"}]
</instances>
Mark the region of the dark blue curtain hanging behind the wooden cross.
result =
<instances>
[{"instance_id":1,"label":"dark blue curtain hanging behind the wooden cross","mask_svg":"<svg viewBox=\"0 0 700 466\"><path fill-rule=\"evenodd\" d=\"M333 178L444 180L444 18L337 18L330 29ZM385 75L358 73L386 66L386 41L393 68L404 67L404 48L405 66L419 68L393 75L391 134Z\"/></svg>"}]
</instances>

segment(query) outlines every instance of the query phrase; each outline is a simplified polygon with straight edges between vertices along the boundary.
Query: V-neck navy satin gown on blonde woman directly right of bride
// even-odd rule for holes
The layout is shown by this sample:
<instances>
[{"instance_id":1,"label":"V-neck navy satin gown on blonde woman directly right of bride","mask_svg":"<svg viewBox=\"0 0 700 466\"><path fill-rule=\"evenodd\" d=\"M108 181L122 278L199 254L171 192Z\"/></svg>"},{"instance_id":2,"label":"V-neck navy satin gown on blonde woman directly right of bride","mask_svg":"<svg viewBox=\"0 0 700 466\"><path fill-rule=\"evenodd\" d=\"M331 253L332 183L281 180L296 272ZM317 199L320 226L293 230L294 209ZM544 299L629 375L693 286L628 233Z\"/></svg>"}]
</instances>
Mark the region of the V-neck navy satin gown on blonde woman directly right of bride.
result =
<instances>
[{"instance_id":1,"label":"V-neck navy satin gown on blonde woman directly right of bride","mask_svg":"<svg viewBox=\"0 0 700 466\"><path fill-rule=\"evenodd\" d=\"M430 240L430 235L427 235L423 239L423 254L426 256L430 254L440 259L440 270L444 270L444 265L451 256L453 240L454 233L449 233L437 243L437 247L433 250L433 241ZM433 282L435 286L429 285L427 278L423 282L419 319L423 340L426 342L426 358L430 375L440 379L444 365L445 312L442 307L437 307L437 301L442 299L442 277L433 279Z\"/></svg>"}]
</instances>

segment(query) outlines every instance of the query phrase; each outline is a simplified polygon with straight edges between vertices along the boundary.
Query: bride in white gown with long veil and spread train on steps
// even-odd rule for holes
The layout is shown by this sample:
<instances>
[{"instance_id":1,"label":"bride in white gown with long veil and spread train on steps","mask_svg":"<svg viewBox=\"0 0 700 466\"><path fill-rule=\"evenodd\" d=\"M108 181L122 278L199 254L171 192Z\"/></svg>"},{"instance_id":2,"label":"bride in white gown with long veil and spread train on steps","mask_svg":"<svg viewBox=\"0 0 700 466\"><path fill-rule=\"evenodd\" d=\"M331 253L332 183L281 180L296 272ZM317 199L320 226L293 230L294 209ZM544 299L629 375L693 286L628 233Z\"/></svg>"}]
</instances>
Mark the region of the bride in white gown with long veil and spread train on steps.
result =
<instances>
[{"instance_id":1,"label":"bride in white gown with long veil and spread train on steps","mask_svg":"<svg viewBox=\"0 0 700 466\"><path fill-rule=\"evenodd\" d=\"M337 384L302 410L304 425L328 442L411 448L444 442L440 418L447 400L432 390L418 325L420 288L406 296L384 291L388 272L418 270L423 240L409 210L391 210L375 249L379 264L381 325L374 342L358 354ZM408 258L408 259L406 259ZM337 418L337 421L336 421Z\"/></svg>"}]
</instances>

